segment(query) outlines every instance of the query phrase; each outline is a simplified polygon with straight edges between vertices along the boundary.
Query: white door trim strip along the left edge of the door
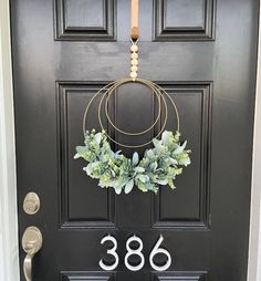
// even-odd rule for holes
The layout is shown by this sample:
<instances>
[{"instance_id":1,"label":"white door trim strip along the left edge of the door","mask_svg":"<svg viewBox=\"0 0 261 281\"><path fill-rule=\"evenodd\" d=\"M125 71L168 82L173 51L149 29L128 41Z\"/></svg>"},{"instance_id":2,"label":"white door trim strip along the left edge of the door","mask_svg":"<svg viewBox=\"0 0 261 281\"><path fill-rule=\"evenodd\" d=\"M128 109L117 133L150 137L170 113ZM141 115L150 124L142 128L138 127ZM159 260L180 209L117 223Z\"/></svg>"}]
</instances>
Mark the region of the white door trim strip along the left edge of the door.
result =
<instances>
[{"instance_id":1,"label":"white door trim strip along the left edge of the door","mask_svg":"<svg viewBox=\"0 0 261 281\"><path fill-rule=\"evenodd\" d=\"M9 0L0 0L0 281L18 281L18 219Z\"/></svg>"}]
</instances>

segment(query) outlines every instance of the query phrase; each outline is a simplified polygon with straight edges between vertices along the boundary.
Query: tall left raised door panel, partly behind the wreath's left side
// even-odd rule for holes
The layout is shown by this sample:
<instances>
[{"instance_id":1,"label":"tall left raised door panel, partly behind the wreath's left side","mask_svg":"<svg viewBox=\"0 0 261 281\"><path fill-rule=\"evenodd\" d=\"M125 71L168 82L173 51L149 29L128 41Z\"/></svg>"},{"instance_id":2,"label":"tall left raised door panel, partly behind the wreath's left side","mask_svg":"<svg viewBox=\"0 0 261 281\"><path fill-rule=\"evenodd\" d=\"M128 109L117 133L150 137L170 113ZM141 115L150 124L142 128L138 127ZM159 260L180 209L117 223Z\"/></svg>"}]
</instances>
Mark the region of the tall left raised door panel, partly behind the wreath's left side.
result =
<instances>
[{"instance_id":1,"label":"tall left raised door panel, partly behind the wreath's left side","mask_svg":"<svg viewBox=\"0 0 261 281\"><path fill-rule=\"evenodd\" d=\"M83 142L83 114L103 84L58 83L58 139L60 170L60 225L62 228L114 228L115 194L97 187L75 160L75 147ZM91 108L93 127L98 128ZM85 164L86 166L86 164Z\"/></svg>"}]
</instances>

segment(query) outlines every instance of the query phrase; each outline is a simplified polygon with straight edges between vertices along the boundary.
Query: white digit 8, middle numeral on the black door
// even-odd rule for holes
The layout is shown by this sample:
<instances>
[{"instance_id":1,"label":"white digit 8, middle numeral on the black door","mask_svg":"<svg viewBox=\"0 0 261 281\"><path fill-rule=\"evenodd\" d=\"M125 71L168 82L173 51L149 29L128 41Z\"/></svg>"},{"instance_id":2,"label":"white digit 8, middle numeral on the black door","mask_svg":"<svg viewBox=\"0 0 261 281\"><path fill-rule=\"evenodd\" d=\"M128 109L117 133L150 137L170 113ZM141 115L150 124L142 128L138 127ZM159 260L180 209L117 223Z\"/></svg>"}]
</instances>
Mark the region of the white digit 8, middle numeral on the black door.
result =
<instances>
[{"instance_id":1,"label":"white digit 8, middle numeral on the black door","mask_svg":"<svg viewBox=\"0 0 261 281\"><path fill-rule=\"evenodd\" d=\"M134 242L134 241L137 241L139 243L139 247L136 250L133 250L130 248L130 243ZM145 263L144 254L142 253L142 250L143 250L143 240L140 238L136 237L136 236L130 237L127 240L127 242L126 242L126 249L127 249L127 253L126 253L125 259L124 259L126 268L128 270L132 270L132 271L138 271L138 270L140 270L144 267L144 263ZM136 266L136 267L130 266L128 263L128 258L130 256L134 256L134 254L138 256L142 259L140 263L138 266Z\"/></svg>"}]
</instances>

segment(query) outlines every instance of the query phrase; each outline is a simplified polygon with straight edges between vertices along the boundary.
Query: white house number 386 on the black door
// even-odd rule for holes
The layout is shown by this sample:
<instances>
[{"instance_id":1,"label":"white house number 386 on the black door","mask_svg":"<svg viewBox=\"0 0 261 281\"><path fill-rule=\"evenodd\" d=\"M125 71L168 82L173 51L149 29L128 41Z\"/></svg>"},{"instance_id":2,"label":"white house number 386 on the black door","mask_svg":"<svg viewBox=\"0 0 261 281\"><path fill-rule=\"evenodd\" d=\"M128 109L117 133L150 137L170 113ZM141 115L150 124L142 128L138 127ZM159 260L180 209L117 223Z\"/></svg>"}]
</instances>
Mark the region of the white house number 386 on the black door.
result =
<instances>
[{"instance_id":1,"label":"white house number 386 on the black door","mask_svg":"<svg viewBox=\"0 0 261 281\"><path fill-rule=\"evenodd\" d=\"M163 240L164 240L164 238L163 238L163 236L160 236L158 241L156 242L155 247L150 251L150 254L149 254L150 267L154 270L156 270L156 271L167 270L170 267L170 264L171 264L171 256L170 256L170 253L166 249L163 249L163 248L159 247L161 244ZM101 243L103 244L106 241L113 242L113 248L107 250L107 254L113 256L114 259L115 259L115 262L112 266L106 266L103 260L100 260L98 264L100 264L100 267L103 270L111 271L111 270L115 270L117 268L118 261L119 261L119 258L118 258L118 254L117 254L117 240L114 237L108 235L108 236L105 236L102 239ZM132 242L137 242L138 243L138 248L137 249L133 249L130 247ZM143 254L143 248L144 248L143 240L139 237L137 237L137 236L133 236L133 237L128 238L128 240L126 241L127 253L125 254L124 263L125 263L125 267L128 270L130 270L130 271L138 271L138 270L140 270L144 267L144 264L145 264L145 258L144 258L144 254ZM165 254L167 257L167 261L165 262L164 266L157 266L154 262L154 258L158 253ZM140 262L137 266L132 266L129 263L129 258L132 256L138 256L139 257Z\"/></svg>"}]
</instances>

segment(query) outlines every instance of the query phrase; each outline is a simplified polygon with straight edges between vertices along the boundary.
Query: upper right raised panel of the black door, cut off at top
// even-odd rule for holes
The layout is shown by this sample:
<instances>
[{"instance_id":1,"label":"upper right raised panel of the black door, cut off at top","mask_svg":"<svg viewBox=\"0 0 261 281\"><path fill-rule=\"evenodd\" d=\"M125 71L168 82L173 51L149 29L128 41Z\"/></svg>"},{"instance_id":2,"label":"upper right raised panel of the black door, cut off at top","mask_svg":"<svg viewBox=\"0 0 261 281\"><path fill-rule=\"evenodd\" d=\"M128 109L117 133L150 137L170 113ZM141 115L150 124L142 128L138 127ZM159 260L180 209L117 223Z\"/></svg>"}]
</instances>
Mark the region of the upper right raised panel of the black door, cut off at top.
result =
<instances>
[{"instance_id":1,"label":"upper right raised panel of the black door, cut off at top","mask_svg":"<svg viewBox=\"0 0 261 281\"><path fill-rule=\"evenodd\" d=\"M213 40L216 0L154 0L156 41Z\"/></svg>"}]
</instances>

